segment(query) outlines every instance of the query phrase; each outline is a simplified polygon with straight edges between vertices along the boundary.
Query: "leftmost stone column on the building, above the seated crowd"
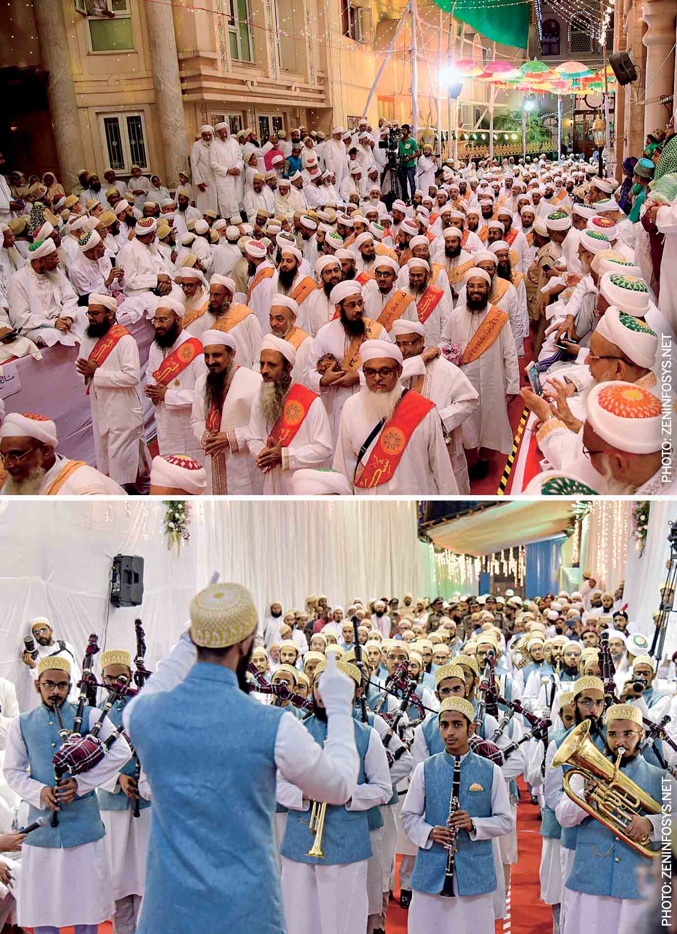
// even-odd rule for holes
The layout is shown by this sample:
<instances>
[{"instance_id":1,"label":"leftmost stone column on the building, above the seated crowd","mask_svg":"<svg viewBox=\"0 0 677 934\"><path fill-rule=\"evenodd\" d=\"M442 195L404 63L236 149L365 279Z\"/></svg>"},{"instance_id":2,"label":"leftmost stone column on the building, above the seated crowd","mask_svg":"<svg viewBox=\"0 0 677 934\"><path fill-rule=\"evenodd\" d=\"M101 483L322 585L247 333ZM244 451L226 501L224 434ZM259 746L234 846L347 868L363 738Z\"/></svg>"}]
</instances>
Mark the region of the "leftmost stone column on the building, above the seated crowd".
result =
<instances>
[{"instance_id":1,"label":"leftmost stone column on the building, above the seated crowd","mask_svg":"<svg viewBox=\"0 0 677 934\"><path fill-rule=\"evenodd\" d=\"M70 191L77 183L77 170L85 168L85 149L77 119L76 87L62 0L35 0L34 12L42 64L49 74L49 114L59 154L60 181Z\"/></svg>"}]
</instances>

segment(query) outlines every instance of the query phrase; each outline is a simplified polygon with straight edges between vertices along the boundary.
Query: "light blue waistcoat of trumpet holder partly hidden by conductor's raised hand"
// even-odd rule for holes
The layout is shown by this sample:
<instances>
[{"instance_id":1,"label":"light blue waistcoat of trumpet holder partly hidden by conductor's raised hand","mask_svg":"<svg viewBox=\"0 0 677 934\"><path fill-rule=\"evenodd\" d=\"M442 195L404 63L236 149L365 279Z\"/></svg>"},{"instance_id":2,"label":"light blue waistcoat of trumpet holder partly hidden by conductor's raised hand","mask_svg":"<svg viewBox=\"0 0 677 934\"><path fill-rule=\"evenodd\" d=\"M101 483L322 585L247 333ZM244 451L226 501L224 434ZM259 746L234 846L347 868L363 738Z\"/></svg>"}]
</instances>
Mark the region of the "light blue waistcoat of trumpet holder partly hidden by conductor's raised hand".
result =
<instances>
[{"instance_id":1,"label":"light blue waistcoat of trumpet holder partly hidden by conductor's raised hand","mask_svg":"<svg viewBox=\"0 0 677 934\"><path fill-rule=\"evenodd\" d=\"M365 756L369 746L371 727L353 720L355 743L360 757L360 771L357 784L366 782ZM316 743L325 745L326 724L311 716L303 726L309 731ZM348 811L343 804L327 804L325 829L322 836L324 859L306 856L314 839L310 829L311 811L290 811L287 827L284 831L280 852L287 859L297 863L310 863L313 866L335 866L343 863L356 863L371 856L369 824L366 811Z\"/></svg>"}]
</instances>

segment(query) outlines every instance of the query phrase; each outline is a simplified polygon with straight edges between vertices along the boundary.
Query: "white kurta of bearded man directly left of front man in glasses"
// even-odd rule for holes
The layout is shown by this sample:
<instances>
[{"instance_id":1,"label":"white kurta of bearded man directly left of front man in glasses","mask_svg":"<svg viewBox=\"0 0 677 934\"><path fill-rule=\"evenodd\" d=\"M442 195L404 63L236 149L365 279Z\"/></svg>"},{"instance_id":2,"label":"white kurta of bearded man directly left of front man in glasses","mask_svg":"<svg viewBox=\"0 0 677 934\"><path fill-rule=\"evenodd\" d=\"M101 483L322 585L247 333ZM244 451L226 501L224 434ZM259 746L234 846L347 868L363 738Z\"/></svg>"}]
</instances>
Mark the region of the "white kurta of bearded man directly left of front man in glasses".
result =
<instances>
[{"instance_id":1,"label":"white kurta of bearded man directly left of front man in glasses","mask_svg":"<svg viewBox=\"0 0 677 934\"><path fill-rule=\"evenodd\" d=\"M272 429L273 424L264 417L257 396L252 404L252 417L248 432L249 451L252 458L256 459L259 452L266 446ZM289 446L283 447L282 464L278 464L264 474L264 494L291 492L289 481L292 474L304 467L324 467L331 458L333 450L325 407L321 399L313 399L294 440Z\"/></svg>"}]
</instances>

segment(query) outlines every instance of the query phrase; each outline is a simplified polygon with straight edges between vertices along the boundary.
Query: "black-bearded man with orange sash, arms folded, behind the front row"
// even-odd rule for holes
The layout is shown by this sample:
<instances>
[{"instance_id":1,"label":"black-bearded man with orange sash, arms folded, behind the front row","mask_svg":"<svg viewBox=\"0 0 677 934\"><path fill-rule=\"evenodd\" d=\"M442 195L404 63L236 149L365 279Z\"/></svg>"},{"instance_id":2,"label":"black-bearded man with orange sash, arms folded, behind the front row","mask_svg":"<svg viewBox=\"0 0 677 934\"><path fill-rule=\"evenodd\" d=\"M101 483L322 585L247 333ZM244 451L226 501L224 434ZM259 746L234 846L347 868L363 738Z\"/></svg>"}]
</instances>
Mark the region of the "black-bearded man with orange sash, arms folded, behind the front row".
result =
<instances>
[{"instance_id":1,"label":"black-bearded man with orange sash, arms folded, behind the front row","mask_svg":"<svg viewBox=\"0 0 677 934\"><path fill-rule=\"evenodd\" d=\"M320 393L336 444L341 409L360 389L360 347L372 338L387 340L388 332L366 318L359 282L339 282L329 293L329 301L336 305L339 317L316 333L303 382Z\"/></svg>"}]
</instances>

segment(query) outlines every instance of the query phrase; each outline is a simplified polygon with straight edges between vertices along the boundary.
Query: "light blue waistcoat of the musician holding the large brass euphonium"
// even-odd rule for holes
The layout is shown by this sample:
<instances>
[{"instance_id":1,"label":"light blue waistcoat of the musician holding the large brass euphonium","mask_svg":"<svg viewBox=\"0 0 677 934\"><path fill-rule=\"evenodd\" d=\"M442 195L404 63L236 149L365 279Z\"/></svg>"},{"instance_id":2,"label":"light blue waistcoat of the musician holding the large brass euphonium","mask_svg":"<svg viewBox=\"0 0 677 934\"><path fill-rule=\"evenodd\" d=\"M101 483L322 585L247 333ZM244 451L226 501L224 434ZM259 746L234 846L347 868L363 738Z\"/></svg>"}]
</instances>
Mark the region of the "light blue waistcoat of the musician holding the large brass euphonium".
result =
<instances>
[{"instance_id":1,"label":"light blue waistcoat of the musician holding the large brass euphonium","mask_svg":"<svg viewBox=\"0 0 677 934\"><path fill-rule=\"evenodd\" d=\"M621 771L660 804L661 779L666 772L649 765L642 757L622 766ZM658 845L653 844L653 848L657 849ZM636 853L612 830L594 817L586 817L578 825L576 853L567 888L613 899L641 899L637 870L647 862L646 856Z\"/></svg>"}]
</instances>

